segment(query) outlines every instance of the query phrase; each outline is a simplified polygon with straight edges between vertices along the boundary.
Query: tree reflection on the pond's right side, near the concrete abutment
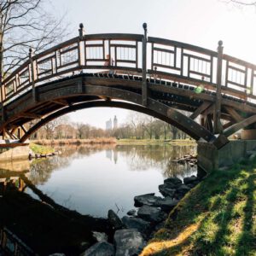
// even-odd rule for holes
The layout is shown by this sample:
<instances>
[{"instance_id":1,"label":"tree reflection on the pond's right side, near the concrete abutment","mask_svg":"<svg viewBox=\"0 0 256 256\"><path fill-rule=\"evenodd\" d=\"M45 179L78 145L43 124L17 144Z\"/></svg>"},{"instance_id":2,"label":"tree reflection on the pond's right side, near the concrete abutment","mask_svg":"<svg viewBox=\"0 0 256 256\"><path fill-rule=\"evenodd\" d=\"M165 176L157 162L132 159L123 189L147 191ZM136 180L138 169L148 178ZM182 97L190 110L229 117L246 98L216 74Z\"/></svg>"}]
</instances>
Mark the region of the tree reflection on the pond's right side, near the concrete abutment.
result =
<instances>
[{"instance_id":1,"label":"tree reflection on the pond's right side, near the concrete abutment","mask_svg":"<svg viewBox=\"0 0 256 256\"><path fill-rule=\"evenodd\" d=\"M194 153L195 146L117 146L115 149L127 158L131 170L134 171L147 170L149 167L160 168L165 177L184 177L196 171L196 167L191 170L188 164L180 165L173 161L184 154Z\"/></svg>"}]
</instances>

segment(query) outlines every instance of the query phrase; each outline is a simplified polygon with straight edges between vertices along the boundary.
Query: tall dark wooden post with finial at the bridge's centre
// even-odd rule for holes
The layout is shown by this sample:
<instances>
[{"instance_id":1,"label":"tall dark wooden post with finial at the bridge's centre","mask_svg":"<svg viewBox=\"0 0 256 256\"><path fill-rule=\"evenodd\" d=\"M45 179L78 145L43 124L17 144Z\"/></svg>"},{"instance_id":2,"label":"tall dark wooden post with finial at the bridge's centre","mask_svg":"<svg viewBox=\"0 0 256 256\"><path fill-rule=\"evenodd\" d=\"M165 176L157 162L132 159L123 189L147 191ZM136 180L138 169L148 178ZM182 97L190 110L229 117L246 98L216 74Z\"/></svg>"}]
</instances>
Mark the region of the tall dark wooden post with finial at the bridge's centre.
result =
<instances>
[{"instance_id":1,"label":"tall dark wooden post with finial at the bridge's centre","mask_svg":"<svg viewBox=\"0 0 256 256\"><path fill-rule=\"evenodd\" d=\"M144 37L143 37L143 106L148 104L148 86L147 86L147 23L143 23Z\"/></svg>"}]
</instances>

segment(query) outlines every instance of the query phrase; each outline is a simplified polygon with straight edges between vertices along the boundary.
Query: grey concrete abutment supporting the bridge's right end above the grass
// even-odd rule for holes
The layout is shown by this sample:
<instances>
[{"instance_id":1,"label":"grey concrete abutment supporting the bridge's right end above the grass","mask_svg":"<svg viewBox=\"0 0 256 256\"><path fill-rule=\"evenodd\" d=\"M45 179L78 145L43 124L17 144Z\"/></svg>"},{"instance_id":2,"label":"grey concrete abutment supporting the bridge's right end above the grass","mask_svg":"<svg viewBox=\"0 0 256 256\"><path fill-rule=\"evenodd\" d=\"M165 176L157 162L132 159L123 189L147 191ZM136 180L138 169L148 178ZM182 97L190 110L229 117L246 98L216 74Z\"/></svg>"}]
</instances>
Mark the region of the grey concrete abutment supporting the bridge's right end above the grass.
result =
<instances>
[{"instance_id":1,"label":"grey concrete abutment supporting the bridge's right end above the grass","mask_svg":"<svg viewBox=\"0 0 256 256\"><path fill-rule=\"evenodd\" d=\"M219 149L212 143L198 142L198 166L206 172L212 172L248 159L254 150L256 154L256 140L230 141Z\"/></svg>"}]
</instances>

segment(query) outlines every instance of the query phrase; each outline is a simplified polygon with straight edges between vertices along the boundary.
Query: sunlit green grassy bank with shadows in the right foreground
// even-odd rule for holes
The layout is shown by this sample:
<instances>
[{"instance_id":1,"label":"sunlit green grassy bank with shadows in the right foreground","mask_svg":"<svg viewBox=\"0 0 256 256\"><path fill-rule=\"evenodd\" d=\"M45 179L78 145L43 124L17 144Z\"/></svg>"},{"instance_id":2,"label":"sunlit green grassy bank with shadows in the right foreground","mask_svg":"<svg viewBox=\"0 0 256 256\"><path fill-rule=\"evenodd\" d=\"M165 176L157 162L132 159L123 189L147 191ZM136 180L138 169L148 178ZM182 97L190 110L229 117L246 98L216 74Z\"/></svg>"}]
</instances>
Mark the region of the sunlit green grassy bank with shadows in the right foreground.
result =
<instances>
[{"instance_id":1,"label":"sunlit green grassy bank with shadows in the right foreground","mask_svg":"<svg viewBox=\"0 0 256 256\"><path fill-rule=\"evenodd\" d=\"M256 160L212 172L175 207L142 256L256 255Z\"/></svg>"}]
</instances>

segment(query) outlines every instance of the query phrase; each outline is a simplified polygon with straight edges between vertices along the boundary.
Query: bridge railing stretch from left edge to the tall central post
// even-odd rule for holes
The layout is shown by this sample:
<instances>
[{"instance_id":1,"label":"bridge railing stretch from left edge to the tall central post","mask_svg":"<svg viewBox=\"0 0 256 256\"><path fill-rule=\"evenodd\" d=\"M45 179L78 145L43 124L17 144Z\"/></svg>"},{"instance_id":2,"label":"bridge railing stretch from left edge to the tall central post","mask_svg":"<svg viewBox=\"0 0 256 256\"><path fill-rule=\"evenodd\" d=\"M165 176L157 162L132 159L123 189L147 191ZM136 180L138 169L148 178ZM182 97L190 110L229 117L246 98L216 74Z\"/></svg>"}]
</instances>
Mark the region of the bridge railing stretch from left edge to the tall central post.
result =
<instances>
[{"instance_id":1,"label":"bridge railing stretch from left edge to the tall central post","mask_svg":"<svg viewBox=\"0 0 256 256\"><path fill-rule=\"evenodd\" d=\"M142 73L142 35L84 35L31 56L30 60L3 80L1 102L42 84L86 70L125 70Z\"/></svg>"}]
</instances>

